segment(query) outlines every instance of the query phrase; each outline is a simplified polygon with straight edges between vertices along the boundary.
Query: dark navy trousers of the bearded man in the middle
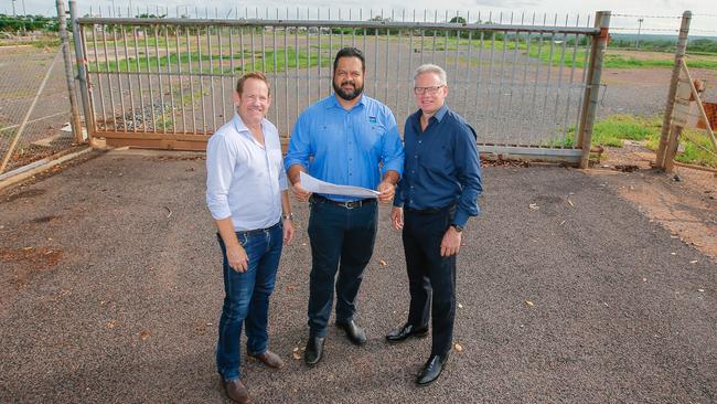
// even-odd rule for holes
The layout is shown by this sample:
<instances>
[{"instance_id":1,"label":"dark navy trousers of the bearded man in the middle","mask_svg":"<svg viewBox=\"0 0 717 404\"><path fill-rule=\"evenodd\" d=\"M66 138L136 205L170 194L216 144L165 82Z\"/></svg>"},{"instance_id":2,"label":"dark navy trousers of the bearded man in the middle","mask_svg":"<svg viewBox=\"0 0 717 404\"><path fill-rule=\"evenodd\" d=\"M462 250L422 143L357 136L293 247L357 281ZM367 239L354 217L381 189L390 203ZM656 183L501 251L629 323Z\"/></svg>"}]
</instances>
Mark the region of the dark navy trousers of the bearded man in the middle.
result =
<instances>
[{"instance_id":1,"label":"dark navy trousers of the bearded man in the middle","mask_svg":"<svg viewBox=\"0 0 717 404\"><path fill-rule=\"evenodd\" d=\"M376 203L347 209L329 202L311 202L308 228L312 261L308 310L311 337L327 334L334 283L336 322L353 320L364 268L374 251L377 212Z\"/></svg>"}]
</instances>

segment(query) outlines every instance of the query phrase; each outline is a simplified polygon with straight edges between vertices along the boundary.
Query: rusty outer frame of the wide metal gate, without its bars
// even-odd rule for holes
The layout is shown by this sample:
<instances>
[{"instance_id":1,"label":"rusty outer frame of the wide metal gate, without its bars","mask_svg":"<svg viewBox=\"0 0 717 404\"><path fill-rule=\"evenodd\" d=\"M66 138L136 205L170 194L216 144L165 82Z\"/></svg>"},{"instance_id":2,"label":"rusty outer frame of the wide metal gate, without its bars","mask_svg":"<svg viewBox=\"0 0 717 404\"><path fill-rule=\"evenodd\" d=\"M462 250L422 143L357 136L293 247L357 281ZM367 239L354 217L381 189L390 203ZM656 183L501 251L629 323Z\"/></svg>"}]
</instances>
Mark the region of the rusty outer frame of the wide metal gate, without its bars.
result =
<instances>
[{"instance_id":1,"label":"rusty outer frame of the wide metal gate, without its bars","mask_svg":"<svg viewBox=\"0 0 717 404\"><path fill-rule=\"evenodd\" d=\"M176 149L176 150L205 150L211 134L167 134L167 132L139 132L139 131L111 131L98 130L95 126L95 111L92 87L88 83L86 42L82 25L88 24L117 24L129 23L141 25L173 25L173 26L296 26L296 28L346 28L354 29L405 29L406 23L393 21L336 21L336 20L223 20L223 19L139 19L139 18L106 18L106 17L76 17L76 2L69 0L72 23L75 35L75 52L78 66L82 100L87 123L88 138L103 137L109 146L129 146L139 148ZM549 25L513 25L513 24L482 24L482 23L437 23L413 22L411 26L424 31L488 31L488 32L531 32L531 33L566 33L585 34L590 36L590 59L587 68L587 78L584 83L582 105L579 109L579 124L576 128L576 142L572 148L549 148L538 146L499 146L479 143L483 155L510 156L535 160L558 160L587 168L590 155L592 127L597 113L600 78L604 49L609 40L610 11L598 11L593 28L580 26L549 26ZM283 139L282 139L283 140Z\"/></svg>"}]
</instances>

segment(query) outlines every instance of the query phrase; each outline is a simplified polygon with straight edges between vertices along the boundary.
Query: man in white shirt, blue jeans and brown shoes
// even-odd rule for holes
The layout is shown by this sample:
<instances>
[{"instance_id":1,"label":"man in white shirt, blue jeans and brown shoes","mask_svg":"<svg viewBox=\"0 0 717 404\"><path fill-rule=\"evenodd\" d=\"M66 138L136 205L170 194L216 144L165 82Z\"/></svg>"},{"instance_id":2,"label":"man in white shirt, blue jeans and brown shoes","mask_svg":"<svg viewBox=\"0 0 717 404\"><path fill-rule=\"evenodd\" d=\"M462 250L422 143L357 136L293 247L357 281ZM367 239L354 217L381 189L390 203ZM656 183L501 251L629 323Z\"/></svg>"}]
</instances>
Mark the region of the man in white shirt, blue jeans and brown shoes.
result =
<instances>
[{"instance_id":1,"label":"man in white shirt, blue jeans and brown shoes","mask_svg":"<svg viewBox=\"0 0 717 404\"><path fill-rule=\"evenodd\" d=\"M293 238L293 225L279 134L265 118L271 95L263 73L238 79L234 104L237 114L206 148L206 204L224 258L216 368L229 398L248 403L239 372L242 328L249 357L283 366L268 350L267 322L282 243Z\"/></svg>"}]
</instances>

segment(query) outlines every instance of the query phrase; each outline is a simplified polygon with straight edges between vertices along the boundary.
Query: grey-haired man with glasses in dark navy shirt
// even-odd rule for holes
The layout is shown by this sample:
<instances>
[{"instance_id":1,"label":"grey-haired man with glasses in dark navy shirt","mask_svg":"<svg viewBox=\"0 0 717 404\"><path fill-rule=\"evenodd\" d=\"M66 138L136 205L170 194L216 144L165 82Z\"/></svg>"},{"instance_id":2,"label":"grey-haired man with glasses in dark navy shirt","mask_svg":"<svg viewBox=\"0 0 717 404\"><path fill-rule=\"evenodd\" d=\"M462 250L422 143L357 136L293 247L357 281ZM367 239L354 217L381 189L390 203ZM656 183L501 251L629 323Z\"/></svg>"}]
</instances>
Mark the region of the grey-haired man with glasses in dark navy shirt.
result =
<instances>
[{"instance_id":1,"label":"grey-haired man with glasses in dark navy shirt","mask_svg":"<svg viewBox=\"0 0 717 404\"><path fill-rule=\"evenodd\" d=\"M403 228L410 306L408 321L386 339L425 337L432 316L430 357L416 379L428 384L452 348L456 256L468 217L478 215L482 184L475 132L446 105L446 72L419 66L414 94L420 109L406 119L406 164L390 212L394 228Z\"/></svg>"}]
</instances>

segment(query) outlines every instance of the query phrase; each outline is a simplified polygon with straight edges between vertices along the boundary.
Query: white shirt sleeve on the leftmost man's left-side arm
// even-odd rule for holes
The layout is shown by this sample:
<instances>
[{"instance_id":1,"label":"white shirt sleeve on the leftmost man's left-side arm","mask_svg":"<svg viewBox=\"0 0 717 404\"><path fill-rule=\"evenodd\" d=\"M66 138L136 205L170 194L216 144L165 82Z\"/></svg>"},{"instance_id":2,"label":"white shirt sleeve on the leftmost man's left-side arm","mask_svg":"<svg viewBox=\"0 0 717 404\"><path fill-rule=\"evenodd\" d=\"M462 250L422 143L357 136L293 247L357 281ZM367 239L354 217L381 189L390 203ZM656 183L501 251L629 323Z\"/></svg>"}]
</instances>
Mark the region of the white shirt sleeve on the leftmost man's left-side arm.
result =
<instances>
[{"instance_id":1,"label":"white shirt sleeve on the leftmost man's left-side arm","mask_svg":"<svg viewBox=\"0 0 717 404\"><path fill-rule=\"evenodd\" d=\"M236 153L225 138L213 136L206 147L206 206L214 220L232 216L228 194L235 163Z\"/></svg>"}]
</instances>

